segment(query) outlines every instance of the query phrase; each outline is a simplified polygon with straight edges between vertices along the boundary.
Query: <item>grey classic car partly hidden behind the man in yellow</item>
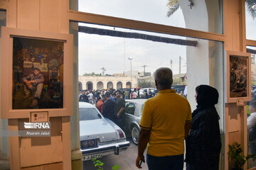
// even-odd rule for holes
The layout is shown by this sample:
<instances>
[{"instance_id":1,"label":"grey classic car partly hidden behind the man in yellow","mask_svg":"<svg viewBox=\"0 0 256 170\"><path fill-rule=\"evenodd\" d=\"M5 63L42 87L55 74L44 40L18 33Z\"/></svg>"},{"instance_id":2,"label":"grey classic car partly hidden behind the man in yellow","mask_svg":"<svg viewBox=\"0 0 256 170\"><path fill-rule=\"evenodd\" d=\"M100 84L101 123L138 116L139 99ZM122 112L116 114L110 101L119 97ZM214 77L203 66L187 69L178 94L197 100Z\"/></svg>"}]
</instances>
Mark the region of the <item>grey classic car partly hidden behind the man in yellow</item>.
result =
<instances>
[{"instance_id":1,"label":"grey classic car partly hidden behind the man in yellow","mask_svg":"<svg viewBox=\"0 0 256 170\"><path fill-rule=\"evenodd\" d=\"M144 106L146 99L133 99L126 100L124 112L125 121L124 128L131 134L132 141L135 145L138 145L139 139L139 122L142 118L142 108Z\"/></svg>"}]
</instances>

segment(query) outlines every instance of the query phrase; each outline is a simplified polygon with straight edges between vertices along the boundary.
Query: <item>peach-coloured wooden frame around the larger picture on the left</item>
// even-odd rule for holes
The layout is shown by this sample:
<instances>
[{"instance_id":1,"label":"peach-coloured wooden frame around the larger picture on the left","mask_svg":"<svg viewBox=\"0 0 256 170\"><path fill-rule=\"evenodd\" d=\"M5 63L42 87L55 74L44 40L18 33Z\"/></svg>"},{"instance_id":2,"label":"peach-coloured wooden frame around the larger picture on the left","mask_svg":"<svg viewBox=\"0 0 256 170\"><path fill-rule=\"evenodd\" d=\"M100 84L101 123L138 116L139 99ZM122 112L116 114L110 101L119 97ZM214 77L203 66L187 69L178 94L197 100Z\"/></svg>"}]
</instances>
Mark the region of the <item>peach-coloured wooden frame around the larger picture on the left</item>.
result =
<instances>
[{"instance_id":1,"label":"peach-coloured wooden frame around the larger picture on the left","mask_svg":"<svg viewBox=\"0 0 256 170\"><path fill-rule=\"evenodd\" d=\"M6 27L2 27L1 31L1 118L30 118L31 111L48 112L48 117L73 115L73 35ZM59 92L62 95L62 105L60 107L14 108L14 62L17 60L16 55L14 56L15 39L45 42L46 45L50 42L63 44L61 49L63 54L61 58L61 91ZM23 58L25 59L25 55ZM33 70L36 69L34 66ZM58 76L59 72L60 70L58 70Z\"/></svg>"}]
</instances>

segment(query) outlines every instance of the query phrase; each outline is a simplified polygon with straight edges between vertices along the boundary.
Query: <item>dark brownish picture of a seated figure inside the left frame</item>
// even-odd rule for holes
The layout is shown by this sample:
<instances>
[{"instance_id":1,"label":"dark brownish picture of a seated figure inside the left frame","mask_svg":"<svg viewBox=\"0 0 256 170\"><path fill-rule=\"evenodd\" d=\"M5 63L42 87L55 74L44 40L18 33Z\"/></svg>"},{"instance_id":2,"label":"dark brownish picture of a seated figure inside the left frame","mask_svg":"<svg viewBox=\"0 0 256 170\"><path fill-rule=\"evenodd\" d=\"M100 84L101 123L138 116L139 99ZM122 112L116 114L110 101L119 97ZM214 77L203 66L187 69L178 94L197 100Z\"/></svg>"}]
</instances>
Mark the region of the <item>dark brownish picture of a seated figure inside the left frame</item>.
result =
<instances>
[{"instance_id":1,"label":"dark brownish picture of a seated figure inside the left frame","mask_svg":"<svg viewBox=\"0 0 256 170\"><path fill-rule=\"evenodd\" d=\"M63 42L14 38L13 109L63 108Z\"/></svg>"}]
</instances>

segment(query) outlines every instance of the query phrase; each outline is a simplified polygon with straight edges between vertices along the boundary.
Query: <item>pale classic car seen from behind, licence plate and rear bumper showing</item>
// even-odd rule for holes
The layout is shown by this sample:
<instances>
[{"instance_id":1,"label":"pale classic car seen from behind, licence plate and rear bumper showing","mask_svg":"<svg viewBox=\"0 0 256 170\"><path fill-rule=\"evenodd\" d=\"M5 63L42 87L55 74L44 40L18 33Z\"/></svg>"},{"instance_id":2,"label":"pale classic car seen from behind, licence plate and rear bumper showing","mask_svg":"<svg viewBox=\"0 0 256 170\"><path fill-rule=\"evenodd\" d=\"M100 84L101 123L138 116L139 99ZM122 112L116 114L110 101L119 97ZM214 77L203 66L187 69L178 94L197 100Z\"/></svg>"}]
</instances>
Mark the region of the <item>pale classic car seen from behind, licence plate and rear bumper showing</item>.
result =
<instances>
[{"instance_id":1,"label":"pale classic car seen from behind, licence plate and rear bumper showing","mask_svg":"<svg viewBox=\"0 0 256 170\"><path fill-rule=\"evenodd\" d=\"M119 154L129 147L129 141L119 126L104 118L90 103L79 102L80 149L87 161L107 154Z\"/></svg>"}]
</instances>

